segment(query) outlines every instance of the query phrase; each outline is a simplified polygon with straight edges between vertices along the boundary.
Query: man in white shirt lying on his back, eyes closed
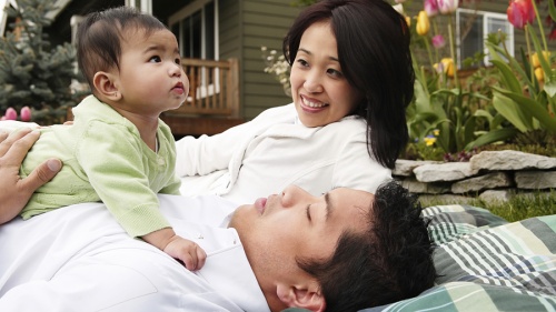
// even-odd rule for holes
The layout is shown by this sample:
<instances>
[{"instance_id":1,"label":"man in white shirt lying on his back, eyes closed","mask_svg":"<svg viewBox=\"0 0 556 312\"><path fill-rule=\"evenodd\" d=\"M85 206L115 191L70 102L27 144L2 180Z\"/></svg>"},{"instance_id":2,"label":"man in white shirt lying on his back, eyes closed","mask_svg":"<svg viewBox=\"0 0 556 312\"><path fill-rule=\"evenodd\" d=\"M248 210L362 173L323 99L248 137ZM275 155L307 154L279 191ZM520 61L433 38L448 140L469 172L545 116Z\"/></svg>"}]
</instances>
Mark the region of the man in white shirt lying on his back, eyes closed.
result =
<instances>
[{"instance_id":1,"label":"man in white shirt lying on his back, eyes closed","mask_svg":"<svg viewBox=\"0 0 556 312\"><path fill-rule=\"evenodd\" d=\"M28 135L0 143L2 203L13 185L40 184L39 174L16 182L12 170ZM419 210L395 182L375 195L288 187L237 209L216 197L160 201L176 231L207 251L205 268L190 272L130 239L101 203L63 208L0 228L0 311L356 311L415 296L435 279Z\"/></svg>"}]
</instances>

